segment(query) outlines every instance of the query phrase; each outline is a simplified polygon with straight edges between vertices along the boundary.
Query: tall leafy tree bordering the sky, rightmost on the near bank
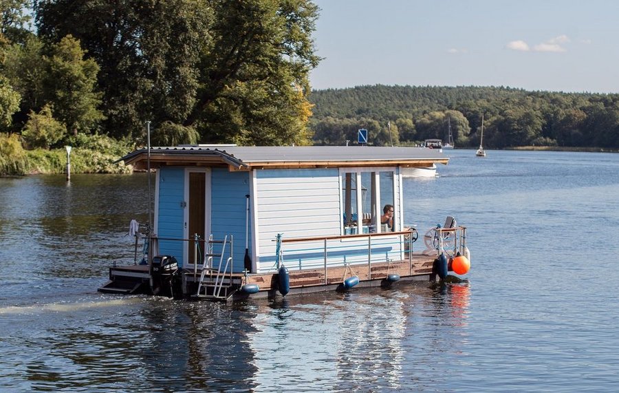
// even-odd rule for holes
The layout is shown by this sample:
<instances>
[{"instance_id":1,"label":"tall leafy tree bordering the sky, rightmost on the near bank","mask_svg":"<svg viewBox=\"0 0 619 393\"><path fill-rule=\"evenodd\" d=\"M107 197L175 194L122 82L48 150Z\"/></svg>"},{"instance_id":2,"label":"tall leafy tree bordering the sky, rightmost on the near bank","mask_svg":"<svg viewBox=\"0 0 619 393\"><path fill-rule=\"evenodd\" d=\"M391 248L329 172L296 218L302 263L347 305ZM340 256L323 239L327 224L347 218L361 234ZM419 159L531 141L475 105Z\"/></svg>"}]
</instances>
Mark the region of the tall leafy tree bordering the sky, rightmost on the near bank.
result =
<instances>
[{"instance_id":1,"label":"tall leafy tree bordering the sky, rightmost on the near bank","mask_svg":"<svg viewBox=\"0 0 619 393\"><path fill-rule=\"evenodd\" d=\"M186 124L203 140L245 145L309 142L309 72L318 64L308 0L213 1L213 46Z\"/></svg>"}]
</instances>

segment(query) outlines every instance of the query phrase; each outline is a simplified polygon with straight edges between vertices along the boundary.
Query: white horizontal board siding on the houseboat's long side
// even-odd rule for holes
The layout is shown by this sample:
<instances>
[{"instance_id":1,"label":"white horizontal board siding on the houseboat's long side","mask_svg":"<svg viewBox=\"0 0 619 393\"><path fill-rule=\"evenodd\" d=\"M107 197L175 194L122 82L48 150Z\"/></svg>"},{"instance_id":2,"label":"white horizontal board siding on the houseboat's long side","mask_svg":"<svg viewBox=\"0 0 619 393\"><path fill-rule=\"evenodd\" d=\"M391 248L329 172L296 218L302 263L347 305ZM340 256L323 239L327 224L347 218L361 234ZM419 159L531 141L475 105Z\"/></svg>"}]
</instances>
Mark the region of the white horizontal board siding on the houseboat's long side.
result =
<instances>
[{"instance_id":1,"label":"white horizontal board siding on the houseboat's long side","mask_svg":"<svg viewBox=\"0 0 619 393\"><path fill-rule=\"evenodd\" d=\"M400 204L400 187L394 187L395 204ZM256 222L259 233L257 268L274 271L276 235L283 239L323 237L341 234L343 215L338 169L260 170L254 176ZM327 266L345 263L361 266L388 259L400 259L400 237L374 238L371 255L367 238L327 241ZM323 240L284 243L283 260L290 270L323 268Z\"/></svg>"}]
</instances>

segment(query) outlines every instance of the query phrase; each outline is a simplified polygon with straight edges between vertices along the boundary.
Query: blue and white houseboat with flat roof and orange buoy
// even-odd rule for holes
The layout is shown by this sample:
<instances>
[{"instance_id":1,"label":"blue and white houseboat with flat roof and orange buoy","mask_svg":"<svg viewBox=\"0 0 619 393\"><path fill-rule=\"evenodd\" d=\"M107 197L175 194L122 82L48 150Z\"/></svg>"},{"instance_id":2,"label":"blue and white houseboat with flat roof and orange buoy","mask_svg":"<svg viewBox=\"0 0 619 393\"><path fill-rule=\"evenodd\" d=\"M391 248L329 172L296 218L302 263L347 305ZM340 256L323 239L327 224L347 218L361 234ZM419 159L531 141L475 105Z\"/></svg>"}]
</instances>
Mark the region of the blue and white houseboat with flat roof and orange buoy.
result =
<instances>
[{"instance_id":1,"label":"blue and white houseboat with flat roof and orange buoy","mask_svg":"<svg viewBox=\"0 0 619 393\"><path fill-rule=\"evenodd\" d=\"M155 171L153 224L131 222L144 262L109 267L104 293L271 298L470 266L466 228L451 217L417 243L404 222L402 171L447 164L437 149L196 145L120 160Z\"/></svg>"}]
</instances>

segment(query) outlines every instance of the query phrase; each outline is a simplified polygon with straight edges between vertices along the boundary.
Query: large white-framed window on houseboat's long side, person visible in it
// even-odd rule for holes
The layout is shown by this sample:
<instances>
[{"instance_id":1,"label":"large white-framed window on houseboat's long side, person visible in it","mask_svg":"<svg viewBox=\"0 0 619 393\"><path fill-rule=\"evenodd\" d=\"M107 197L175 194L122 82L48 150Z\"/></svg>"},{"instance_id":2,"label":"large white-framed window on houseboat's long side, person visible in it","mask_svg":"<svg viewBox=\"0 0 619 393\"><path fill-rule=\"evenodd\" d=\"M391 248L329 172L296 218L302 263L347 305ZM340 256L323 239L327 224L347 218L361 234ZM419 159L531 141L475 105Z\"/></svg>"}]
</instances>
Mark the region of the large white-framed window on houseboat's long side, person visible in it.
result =
<instances>
[{"instance_id":1,"label":"large white-framed window on houseboat's long side, person visible in it","mask_svg":"<svg viewBox=\"0 0 619 393\"><path fill-rule=\"evenodd\" d=\"M393 179L393 171L342 172L343 235L395 231Z\"/></svg>"}]
</instances>

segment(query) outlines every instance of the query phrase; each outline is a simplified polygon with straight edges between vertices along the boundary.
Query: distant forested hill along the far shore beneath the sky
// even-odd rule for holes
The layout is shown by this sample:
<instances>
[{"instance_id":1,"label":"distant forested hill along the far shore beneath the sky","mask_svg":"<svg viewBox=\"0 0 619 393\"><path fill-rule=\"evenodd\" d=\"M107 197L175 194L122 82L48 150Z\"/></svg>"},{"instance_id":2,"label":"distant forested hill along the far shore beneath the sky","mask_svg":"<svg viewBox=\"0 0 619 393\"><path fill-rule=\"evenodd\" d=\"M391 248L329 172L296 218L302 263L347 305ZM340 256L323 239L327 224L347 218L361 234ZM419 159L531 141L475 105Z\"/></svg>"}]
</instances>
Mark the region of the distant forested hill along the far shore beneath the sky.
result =
<instances>
[{"instance_id":1,"label":"distant forested hill along the far shore beneath the sky","mask_svg":"<svg viewBox=\"0 0 619 393\"><path fill-rule=\"evenodd\" d=\"M315 90L314 143L356 142L360 128L373 145L412 145L429 138L456 147L619 148L619 94L530 92L508 87L359 86Z\"/></svg>"}]
</instances>

